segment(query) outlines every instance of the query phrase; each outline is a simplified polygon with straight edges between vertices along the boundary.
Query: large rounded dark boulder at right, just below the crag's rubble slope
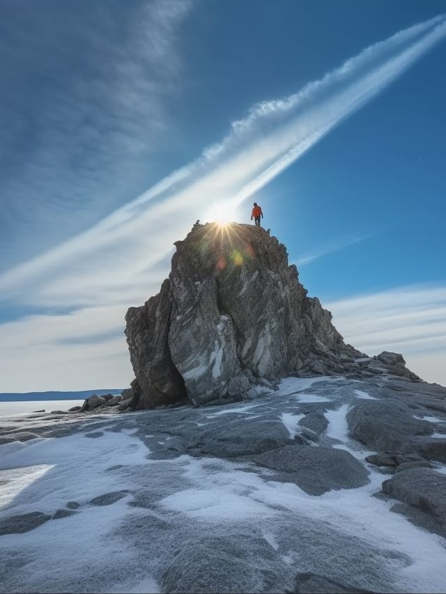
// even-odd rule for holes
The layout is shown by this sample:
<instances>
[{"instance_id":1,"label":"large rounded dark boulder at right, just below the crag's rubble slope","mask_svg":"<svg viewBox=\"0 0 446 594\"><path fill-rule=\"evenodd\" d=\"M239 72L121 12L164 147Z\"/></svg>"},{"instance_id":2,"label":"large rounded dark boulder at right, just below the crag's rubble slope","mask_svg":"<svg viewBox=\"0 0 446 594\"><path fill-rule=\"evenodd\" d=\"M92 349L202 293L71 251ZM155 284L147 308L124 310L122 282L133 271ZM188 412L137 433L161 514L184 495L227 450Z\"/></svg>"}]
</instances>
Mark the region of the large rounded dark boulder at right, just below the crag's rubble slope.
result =
<instances>
[{"instance_id":1,"label":"large rounded dark boulder at right, just below the crag's rubble slope","mask_svg":"<svg viewBox=\"0 0 446 594\"><path fill-rule=\"evenodd\" d=\"M397 400L363 400L348 411L347 422L351 437L378 451L413 453L410 437L433 433L429 421L414 419Z\"/></svg>"}]
</instances>

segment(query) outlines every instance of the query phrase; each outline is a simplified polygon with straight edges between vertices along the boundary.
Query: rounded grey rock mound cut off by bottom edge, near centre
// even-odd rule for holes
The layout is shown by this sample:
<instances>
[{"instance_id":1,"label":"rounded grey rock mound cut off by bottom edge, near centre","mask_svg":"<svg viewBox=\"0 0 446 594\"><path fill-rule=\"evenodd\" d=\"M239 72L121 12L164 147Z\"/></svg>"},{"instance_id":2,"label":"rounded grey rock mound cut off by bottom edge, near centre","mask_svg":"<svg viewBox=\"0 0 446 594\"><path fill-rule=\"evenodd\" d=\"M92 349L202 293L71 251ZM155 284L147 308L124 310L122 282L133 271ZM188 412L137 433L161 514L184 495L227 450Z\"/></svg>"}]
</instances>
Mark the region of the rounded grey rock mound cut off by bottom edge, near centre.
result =
<instances>
[{"instance_id":1,"label":"rounded grey rock mound cut off by bottom edge, near centre","mask_svg":"<svg viewBox=\"0 0 446 594\"><path fill-rule=\"evenodd\" d=\"M284 592L293 579L277 552L258 536L235 533L231 538L213 536L183 543L164 568L162 591ZM218 590L216 590L216 586Z\"/></svg>"}]
</instances>

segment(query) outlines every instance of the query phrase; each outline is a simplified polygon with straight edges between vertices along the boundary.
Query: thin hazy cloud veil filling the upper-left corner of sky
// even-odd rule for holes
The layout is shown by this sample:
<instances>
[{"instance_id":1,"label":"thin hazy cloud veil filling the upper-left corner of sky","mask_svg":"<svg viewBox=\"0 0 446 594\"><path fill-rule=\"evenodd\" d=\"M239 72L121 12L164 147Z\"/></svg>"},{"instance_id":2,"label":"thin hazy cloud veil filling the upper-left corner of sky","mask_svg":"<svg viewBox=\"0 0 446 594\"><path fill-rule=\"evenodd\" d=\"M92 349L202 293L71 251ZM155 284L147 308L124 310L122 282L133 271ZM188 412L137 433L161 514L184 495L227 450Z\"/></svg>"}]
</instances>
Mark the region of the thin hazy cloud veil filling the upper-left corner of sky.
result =
<instances>
[{"instance_id":1,"label":"thin hazy cloud veil filling the upper-left corner of sky","mask_svg":"<svg viewBox=\"0 0 446 594\"><path fill-rule=\"evenodd\" d=\"M173 137L167 99L178 95L178 29L191 6L1 6L0 270L144 187L154 153Z\"/></svg>"}]
</instances>

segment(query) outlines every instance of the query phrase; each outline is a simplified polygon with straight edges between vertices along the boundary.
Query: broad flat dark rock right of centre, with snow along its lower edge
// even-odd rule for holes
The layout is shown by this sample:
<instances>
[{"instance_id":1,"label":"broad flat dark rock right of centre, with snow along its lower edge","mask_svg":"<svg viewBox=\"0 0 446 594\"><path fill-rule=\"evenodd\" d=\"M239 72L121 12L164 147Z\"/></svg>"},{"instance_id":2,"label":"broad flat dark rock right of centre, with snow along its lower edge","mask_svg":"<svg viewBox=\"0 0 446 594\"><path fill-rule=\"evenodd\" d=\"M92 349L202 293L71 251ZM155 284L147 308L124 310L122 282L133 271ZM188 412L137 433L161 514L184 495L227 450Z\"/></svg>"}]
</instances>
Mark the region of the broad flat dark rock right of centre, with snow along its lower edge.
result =
<instances>
[{"instance_id":1,"label":"broad flat dark rock right of centre, with snow along its lower edge","mask_svg":"<svg viewBox=\"0 0 446 594\"><path fill-rule=\"evenodd\" d=\"M351 453L339 448L284 446L250 459L260 466L286 473L286 480L310 495L369 483L367 469Z\"/></svg>"}]
</instances>

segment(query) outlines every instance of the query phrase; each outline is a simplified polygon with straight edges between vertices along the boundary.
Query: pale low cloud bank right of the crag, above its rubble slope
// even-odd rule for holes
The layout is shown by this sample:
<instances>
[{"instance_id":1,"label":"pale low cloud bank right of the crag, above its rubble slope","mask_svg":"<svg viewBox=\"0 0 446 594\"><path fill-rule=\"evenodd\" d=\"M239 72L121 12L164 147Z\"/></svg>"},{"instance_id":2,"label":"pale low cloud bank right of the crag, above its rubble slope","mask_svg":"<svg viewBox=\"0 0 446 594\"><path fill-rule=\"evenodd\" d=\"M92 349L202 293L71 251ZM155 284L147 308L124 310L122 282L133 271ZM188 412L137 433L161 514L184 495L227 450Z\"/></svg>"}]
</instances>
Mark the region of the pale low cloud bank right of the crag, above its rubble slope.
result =
<instances>
[{"instance_id":1,"label":"pale low cloud bank right of the crag, above its rubble slope","mask_svg":"<svg viewBox=\"0 0 446 594\"><path fill-rule=\"evenodd\" d=\"M371 355L401 352L415 373L446 385L446 286L399 287L324 305L348 343Z\"/></svg>"}]
</instances>

